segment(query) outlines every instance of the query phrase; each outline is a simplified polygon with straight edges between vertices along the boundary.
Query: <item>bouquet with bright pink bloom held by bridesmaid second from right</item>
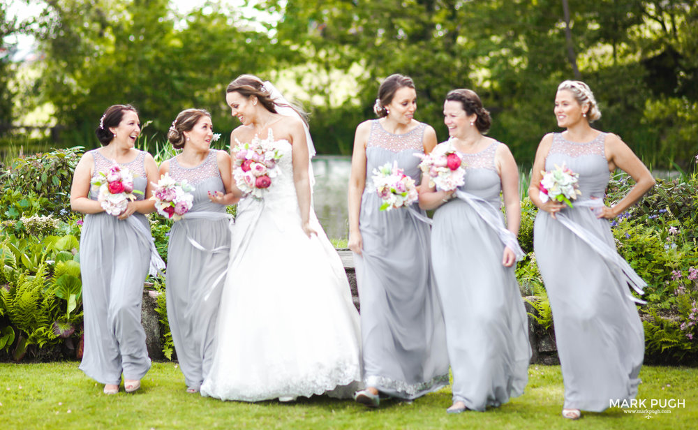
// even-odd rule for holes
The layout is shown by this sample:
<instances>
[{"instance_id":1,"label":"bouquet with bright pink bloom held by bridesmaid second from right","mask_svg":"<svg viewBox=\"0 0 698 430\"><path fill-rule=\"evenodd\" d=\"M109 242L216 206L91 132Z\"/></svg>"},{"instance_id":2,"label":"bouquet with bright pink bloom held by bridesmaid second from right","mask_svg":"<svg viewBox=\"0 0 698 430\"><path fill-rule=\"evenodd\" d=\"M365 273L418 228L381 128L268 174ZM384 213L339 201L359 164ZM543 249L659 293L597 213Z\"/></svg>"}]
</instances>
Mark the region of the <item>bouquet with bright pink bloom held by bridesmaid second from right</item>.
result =
<instances>
[{"instance_id":1,"label":"bouquet with bright pink bloom held by bridesmaid second from right","mask_svg":"<svg viewBox=\"0 0 698 430\"><path fill-rule=\"evenodd\" d=\"M465 183L466 165L450 141L436 145L430 154L415 154L422 158L419 168L429 174L429 186L451 191Z\"/></svg>"}]
</instances>

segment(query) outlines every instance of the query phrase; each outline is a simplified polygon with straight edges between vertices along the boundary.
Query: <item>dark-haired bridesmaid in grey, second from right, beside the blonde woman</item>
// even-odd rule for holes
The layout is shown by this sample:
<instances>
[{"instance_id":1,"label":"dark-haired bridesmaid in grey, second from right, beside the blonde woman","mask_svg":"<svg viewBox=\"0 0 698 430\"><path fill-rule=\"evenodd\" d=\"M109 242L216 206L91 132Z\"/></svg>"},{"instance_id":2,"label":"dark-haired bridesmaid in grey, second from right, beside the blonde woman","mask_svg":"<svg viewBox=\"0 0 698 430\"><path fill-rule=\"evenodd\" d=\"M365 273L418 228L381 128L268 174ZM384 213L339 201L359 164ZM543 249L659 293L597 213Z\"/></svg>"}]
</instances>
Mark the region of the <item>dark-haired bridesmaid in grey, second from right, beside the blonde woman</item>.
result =
<instances>
[{"instance_id":1,"label":"dark-haired bridesmaid in grey, second from right, beside the blonde woman","mask_svg":"<svg viewBox=\"0 0 698 430\"><path fill-rule=\"evenodd\" d=\"M517 254L523 256L519 169L507 145L483 135L491 118L474 91L450 91L443 115L450 139L440 145L462 159L464 184L428 188L419 205L436 209L431 260L453 372L447 412L484 411L521 395L528 381L528 318L514 274Z\"/></svg>"}]
</instances>

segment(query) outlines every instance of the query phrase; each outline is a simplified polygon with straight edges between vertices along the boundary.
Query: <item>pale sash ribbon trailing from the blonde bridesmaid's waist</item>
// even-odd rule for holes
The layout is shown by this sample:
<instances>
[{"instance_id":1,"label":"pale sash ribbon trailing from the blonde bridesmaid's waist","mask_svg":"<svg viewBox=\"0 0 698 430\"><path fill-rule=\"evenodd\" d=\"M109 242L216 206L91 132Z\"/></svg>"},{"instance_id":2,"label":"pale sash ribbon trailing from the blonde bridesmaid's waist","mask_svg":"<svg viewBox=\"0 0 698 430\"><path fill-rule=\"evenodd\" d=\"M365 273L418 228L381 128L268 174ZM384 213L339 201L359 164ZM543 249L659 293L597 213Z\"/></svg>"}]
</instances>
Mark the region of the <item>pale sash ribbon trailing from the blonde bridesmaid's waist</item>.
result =
<instances>
[{"instance_id":1,"label":"pale sash ribbon trailing from the blonde bridesmaid's waist","mask_svg":"<svg viewBox=\"0 0 698 430\"><path fill-rule=\"evenodd\" d=\"M590 200L582 200L579 202L574 202L574 207L589 207L591 209L597 209L599 207L604 206L604 202L602 199L590 199ZM611 248L608 244L603 242L601 239L599 239L596 235L594 235L593 232L587 230L586 228L582 227L579 225L579 223L576 223L572 221L567 215L565 215L564 212L558 212L556 214L556 218L560 223L565 225L565 227L569 228L572 230L572 232L577 235L580 239L582 239L588 246L591 246L591 249L596 251L601 257L604 259L604 262L611 268L611 269L616 269L623 273L623 279L625 282L630 285L630 287L637 292L639 295L643 295L644 291L642 288L647 286L647 283L640 278L637 273L635 273L634 269L630 267L627 261L625 261L625 258L621 257L618 252ZM632 295L628 295L630 299L632 299L633 302L639 303L639 304L646 304L644 300L638 299L637 297L633 297Z\"/></svg>"}]
</instances>

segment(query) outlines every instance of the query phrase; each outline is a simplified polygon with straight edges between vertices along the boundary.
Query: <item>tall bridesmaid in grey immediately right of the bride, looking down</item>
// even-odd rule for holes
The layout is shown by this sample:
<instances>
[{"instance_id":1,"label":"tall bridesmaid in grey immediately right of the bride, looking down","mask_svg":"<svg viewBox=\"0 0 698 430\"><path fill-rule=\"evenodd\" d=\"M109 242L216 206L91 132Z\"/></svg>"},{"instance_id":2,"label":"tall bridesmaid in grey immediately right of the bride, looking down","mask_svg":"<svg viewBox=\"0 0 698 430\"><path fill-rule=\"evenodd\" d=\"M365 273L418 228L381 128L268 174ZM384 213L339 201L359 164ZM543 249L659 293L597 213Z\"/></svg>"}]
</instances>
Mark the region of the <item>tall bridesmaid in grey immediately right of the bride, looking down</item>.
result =
<instances>
[{"instance_id":1,"label":"tall bridesmaid in grey immediately right of the bride, looking down","mask_svg":"<svg viewBox=\"0 0 698 430\"><path fill-rule=\"evenodd\" d=\"M390 75L378 89L379 119L356 129L349 179L349 248L361 299L363 379L355 400L416 399L448 384L443 316L429 259L429 225L415 207L380 211L373 170L397 163L419 182L419 158L436 132L414 119L412 79Z\"/></svg>"}]
</instances>

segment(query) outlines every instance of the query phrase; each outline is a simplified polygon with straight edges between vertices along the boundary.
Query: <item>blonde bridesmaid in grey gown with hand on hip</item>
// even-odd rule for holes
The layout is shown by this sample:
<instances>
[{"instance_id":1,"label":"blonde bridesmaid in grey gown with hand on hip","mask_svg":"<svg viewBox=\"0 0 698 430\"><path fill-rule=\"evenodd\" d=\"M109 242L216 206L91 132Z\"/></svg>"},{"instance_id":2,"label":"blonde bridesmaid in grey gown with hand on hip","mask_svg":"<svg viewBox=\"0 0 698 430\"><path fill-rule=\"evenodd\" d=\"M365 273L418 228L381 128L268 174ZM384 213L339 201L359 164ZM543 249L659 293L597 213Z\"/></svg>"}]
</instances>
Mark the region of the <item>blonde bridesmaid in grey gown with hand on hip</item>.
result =
<instances>
[{"instance_id":1,"label":"blonde bridesmaid in grey gown with hand on hip","mask_svg":"<svg viewBox=\"0 0 698 430\"><path fill-rule=\"evenodd\" d=\"M584 82L562 82L554 113L563 133L538 145L528 195L540 209L533 246L553 311L565 381L563 416L600 412L612 401L634 399L644 356L644 330L628 286L646 285L616 253L609 219L634 205L655 184L645 165L621 138L589 124L601 117ZM565 166L579 175L573 207L547 198L544 170ZM610 173L621 169L635 185L612 206L604 204Z\"/></svg>"}]
</instances>

